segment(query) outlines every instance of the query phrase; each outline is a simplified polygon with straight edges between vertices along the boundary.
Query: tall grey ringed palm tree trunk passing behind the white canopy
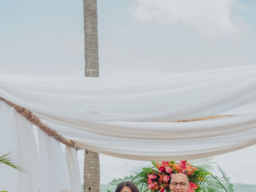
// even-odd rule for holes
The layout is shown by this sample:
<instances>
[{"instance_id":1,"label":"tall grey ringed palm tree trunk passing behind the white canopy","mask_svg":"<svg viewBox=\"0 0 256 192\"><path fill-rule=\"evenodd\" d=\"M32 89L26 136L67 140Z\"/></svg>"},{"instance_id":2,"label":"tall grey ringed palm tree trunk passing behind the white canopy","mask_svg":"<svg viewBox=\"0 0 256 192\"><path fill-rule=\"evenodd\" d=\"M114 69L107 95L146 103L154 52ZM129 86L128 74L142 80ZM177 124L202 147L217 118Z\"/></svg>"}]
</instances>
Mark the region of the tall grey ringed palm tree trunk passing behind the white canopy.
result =
<instances>
[{"instance_id":1,"label":"tall grey ringed palm tree trunk passing behind the white canopy","mask_svg":"<svg viewBox=\"0 0 256 192\"><path fill-rule=\"evenodd\" d=\"M97 0L84 1L85 76L99 76ZM84 152L84 192L100 191L99 154Z\"/></svg>"}]
</instances>

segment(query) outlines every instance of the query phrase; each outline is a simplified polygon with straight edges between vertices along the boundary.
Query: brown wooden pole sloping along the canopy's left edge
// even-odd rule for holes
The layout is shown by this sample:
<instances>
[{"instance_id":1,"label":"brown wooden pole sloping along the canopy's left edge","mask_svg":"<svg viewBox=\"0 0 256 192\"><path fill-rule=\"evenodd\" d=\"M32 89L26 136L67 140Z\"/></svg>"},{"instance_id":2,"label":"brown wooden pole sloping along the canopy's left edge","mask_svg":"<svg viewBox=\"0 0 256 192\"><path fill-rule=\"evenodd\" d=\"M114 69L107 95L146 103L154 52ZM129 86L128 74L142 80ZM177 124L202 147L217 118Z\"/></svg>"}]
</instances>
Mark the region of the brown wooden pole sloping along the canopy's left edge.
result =
<instances>
[{"instance_id":1,"label":"brown wooden pole sloping along the canopy's left edge","mask_svg":"<svg viewBox=\"0 0 256 192\"><path fill-rule=\"evenodd\" d=\"M2 97L0 97L0 100L6 102L8 105L10 105L12 108L14 108L18 113L22 114L27 120L32 122L32 124L38 126L38 128L40 128L43 132L45 132L49 136L52 136L57 141L65 144L67 146L76 148L76 149L82 149L80 146L76 145L74 143L74 141L72 141L72 140L70 140L68 138L63 137L61 134L59 134L58 132L56 132L55 130L50 128L48 125L43 123L37 116L32 114L32 112L30 112L30 110L28 110L26 108L23 108L21 106L18 106L16 104L13 104L12 102L9 102L8 100L5 100Z\"/></svg>"}]
</instances>

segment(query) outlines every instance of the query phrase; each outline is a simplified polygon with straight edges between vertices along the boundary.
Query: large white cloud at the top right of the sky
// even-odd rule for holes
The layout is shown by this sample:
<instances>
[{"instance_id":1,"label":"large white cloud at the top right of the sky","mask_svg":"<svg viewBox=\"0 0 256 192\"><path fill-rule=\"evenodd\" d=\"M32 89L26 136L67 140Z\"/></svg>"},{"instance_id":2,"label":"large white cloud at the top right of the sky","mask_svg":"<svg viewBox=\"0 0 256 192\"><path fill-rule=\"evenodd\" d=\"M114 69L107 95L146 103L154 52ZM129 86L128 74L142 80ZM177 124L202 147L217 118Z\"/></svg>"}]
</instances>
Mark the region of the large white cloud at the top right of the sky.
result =
<instances>
[{"instance_id":1,"label":"large white cloud at the top right of the sky","mask_svg":"<svg viewBox=\"0 0 256 192\"><path fill-rule=\"evenodd\" d=\"M234 0L136 0L132 13L142 22L184 25L206 37L238 38L247 27L232 15L235 5Z\"/></svg>"}]
</instances>

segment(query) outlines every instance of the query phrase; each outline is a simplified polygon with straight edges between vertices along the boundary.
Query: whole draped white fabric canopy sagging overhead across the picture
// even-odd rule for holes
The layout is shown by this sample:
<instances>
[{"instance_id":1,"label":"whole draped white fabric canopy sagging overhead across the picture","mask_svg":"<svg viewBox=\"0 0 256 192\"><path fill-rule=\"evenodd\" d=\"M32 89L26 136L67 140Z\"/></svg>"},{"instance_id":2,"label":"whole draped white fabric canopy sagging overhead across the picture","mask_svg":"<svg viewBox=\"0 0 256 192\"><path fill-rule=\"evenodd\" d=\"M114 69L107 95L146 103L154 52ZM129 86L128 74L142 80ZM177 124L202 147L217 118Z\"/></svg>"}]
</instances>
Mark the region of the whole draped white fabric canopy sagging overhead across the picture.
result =
<instances>
[{"instance_id":1,"label":"whole draped white fabric canopy sagging overhead across the picture","mask_svg":"<svg viewBox=\"0 0 256 192\"><path fill-rule=\"evenodd\" d=\"M256 143L256 67L141 79L0 76L0 96L89 150L137 160L184 160Z\"/></svg>"}]
</instances>

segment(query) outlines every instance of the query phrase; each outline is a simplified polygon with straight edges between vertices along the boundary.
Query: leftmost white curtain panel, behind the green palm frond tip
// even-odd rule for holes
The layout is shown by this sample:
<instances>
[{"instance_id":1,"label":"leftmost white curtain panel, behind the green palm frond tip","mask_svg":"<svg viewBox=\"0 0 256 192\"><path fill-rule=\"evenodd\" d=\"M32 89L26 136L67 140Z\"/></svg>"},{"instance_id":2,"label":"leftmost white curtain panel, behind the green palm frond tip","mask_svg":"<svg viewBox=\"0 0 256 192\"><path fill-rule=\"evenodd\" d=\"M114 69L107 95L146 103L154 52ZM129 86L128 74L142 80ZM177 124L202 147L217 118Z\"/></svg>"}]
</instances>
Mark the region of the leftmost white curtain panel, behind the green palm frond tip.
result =
<instances>
[{"instance_id":1,"label":"leftmost white curtain panel, behind the green palm frond tip","mask_svg":"<svg viewBox=\"0 0 256 192\"><path fill-rule=\"evenodd\" d=\"M32 124L2 101L0 114L0 155L15 152L15 159L28 172L0 164L0 191L39 192L39 160Z\"/></svg>"}]
</instances>

